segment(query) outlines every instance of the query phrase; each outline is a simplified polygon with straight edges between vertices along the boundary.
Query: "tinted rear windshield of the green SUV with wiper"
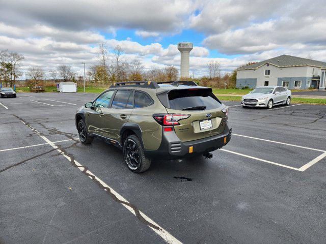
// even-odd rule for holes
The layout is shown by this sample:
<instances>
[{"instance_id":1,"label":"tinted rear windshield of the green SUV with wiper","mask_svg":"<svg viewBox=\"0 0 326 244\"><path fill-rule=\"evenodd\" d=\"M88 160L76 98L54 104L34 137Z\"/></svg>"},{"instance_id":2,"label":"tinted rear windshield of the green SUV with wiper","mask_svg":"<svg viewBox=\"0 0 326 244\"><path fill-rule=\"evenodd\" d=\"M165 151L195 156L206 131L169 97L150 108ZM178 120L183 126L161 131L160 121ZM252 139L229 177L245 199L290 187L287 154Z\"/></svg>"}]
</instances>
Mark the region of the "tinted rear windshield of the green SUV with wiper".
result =
<instances>
[{"instance_id":1,"label":"tinted rear windshield of the green SUV with wiper","mask_svg":"<svg viewBox=\"0 0 326 244\"><path fill-rule=\"evenodd\" d=\"M184 89L169 92L169 107L176 110L208 110L221 106L211 89Z\"/></svg>"}]
</instances>

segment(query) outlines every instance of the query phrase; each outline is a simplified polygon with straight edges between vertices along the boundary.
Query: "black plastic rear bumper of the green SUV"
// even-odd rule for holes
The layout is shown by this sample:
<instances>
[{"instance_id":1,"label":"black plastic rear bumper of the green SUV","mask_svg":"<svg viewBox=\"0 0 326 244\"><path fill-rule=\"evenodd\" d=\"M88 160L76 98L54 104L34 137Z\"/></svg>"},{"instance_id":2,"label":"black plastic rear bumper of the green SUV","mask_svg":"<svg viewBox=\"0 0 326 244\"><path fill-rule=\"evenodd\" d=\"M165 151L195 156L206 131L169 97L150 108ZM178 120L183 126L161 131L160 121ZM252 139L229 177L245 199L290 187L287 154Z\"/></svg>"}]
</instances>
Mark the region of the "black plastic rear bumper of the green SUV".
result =
<instances>
[{"instance_id":1,"label":"black plastic rear bumper of the green SUV","mask_svg":"<svg viewBox=\"0 0 326 244\"><path fill-rule=\"evenodd\" d=\"M209 153L225 146L231 139L232 129L228 123L224 132L211 137L195 141L181 142L174 131L162 133L162 142L157 150L145 150L146 157L162 159L182 159L194 155ZM189 147L193 147L193 153L189 153Z\"/></svg>"}]
</instances>

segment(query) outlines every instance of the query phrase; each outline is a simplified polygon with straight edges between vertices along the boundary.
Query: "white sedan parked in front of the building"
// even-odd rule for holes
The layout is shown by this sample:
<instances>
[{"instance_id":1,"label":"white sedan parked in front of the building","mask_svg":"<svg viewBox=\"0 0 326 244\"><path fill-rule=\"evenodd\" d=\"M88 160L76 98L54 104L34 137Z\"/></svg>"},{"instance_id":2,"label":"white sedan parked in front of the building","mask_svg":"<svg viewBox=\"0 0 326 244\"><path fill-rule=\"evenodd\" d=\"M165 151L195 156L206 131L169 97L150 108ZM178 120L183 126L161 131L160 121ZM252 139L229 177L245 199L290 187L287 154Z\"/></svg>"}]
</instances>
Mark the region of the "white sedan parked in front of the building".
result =
<instances>
[{"instance_id":1,"label":"white sedan parked in front of the building","mask_svg":"<svg viewBox=\"0 0 326 244\"><path fill-rule=\"evenodd\" d=\"M243 107L267 107L291 103L291 91L282 86L261 86L253 89L241 99Z\"/></svg>"}]
</instances>

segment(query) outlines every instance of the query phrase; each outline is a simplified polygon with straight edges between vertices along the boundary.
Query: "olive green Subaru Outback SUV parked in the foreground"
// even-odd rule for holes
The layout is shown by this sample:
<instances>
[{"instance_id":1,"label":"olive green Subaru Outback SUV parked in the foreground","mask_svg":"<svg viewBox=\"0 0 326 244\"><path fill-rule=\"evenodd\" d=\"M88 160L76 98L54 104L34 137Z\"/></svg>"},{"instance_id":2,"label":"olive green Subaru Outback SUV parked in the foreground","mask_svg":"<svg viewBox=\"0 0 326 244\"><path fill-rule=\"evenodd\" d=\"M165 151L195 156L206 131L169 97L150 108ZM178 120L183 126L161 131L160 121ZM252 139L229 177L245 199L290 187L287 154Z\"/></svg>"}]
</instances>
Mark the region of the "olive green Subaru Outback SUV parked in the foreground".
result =
<instances>
[{"instance_id":1,"label":"olive green Subaru Outback SUV parked in the foreground","mask_svg":"<svg viewBox=\"0 0 326 244\"><path fill-rule=\"evenodd\" d=\"M227 120L228 108L212 89L192 81L115 83L75 115L82 143L98 137L121 148L138 173L153 158L211 158L231 139Z\"/></svg>"}]
</instances>

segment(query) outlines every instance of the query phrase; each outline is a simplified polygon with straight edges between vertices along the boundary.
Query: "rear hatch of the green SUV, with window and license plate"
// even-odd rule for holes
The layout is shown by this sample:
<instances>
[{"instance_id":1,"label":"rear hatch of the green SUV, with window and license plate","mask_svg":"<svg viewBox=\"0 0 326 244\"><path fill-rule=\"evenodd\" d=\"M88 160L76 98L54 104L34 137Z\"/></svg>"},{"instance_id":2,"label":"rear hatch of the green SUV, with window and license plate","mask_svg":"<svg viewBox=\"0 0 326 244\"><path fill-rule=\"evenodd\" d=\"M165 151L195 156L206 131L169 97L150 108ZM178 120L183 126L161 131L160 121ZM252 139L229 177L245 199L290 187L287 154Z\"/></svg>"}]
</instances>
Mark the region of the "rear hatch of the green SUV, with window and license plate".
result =
<instances>
[{"instance_id":1,"label":"rear hatch of the green SUV, with window and license plate","mask_svg":"<svg viewBox=\"0 0 326 244\"><path fill-rule=\"evenodd\" d=\"M182 142L218 135L224 131L225 106L212 94L211 88L173 89L166 94L169 114L189 114L174 126ZM162 96L160 100L162 99Z\"/></svg>"}]
</instances>

